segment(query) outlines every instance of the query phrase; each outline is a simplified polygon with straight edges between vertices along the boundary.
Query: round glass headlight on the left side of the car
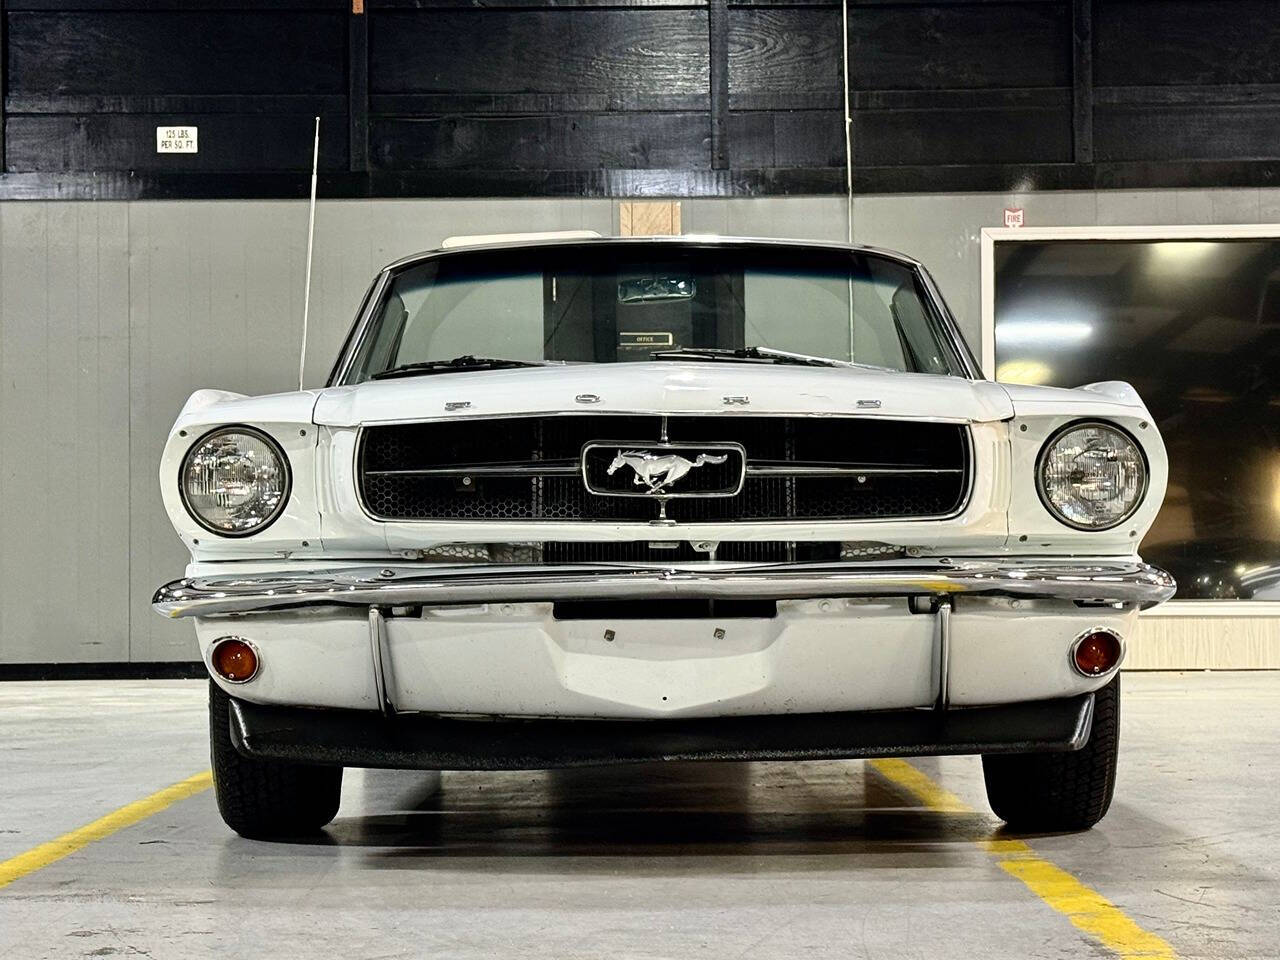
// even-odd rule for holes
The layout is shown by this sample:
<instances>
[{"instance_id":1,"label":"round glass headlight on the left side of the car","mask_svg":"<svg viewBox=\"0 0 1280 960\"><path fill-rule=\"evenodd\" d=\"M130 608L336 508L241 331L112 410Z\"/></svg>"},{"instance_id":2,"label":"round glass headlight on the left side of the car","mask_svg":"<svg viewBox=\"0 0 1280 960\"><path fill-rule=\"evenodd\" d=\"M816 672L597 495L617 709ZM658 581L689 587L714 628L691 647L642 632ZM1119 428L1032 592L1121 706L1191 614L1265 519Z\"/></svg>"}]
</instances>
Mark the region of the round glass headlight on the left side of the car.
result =
<instances>
[{"instance_id":1,"label":"round glass headlight on the left side of the car","mask_svg":"<svg viewBox=\"0 0 1280 960\"><path fill-rule=\"evenodd\" d=\"M248 536L275 521L289 498L289 463L279 444L250 426L201 436L178 476L187 512L206 530Z\"/></svg>"}]
</instances>

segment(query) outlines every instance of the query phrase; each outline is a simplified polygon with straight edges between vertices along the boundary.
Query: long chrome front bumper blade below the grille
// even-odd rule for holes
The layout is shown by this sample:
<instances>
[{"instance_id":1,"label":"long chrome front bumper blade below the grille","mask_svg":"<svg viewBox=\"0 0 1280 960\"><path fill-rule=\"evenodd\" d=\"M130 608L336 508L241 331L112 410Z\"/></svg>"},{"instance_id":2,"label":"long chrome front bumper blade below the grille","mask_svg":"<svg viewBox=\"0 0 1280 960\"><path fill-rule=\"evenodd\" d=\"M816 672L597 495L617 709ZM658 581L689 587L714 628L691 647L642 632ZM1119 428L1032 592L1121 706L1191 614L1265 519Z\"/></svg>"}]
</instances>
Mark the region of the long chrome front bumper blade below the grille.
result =
<instances>
[{"instance_id":1,"label":"long chrome front bumper blade below the grille","mask_svg":"<svg viewBox=\"0 0 1280 960\"><path fill-rule=\"evenodd\" d=\"M211 617L284 607L969 594L1152 607L1172 596L1175 586L1169 573L1139 559L401 564L175 580L156 591L151 605L165 617Z\"/></svg>"}]
</instances>

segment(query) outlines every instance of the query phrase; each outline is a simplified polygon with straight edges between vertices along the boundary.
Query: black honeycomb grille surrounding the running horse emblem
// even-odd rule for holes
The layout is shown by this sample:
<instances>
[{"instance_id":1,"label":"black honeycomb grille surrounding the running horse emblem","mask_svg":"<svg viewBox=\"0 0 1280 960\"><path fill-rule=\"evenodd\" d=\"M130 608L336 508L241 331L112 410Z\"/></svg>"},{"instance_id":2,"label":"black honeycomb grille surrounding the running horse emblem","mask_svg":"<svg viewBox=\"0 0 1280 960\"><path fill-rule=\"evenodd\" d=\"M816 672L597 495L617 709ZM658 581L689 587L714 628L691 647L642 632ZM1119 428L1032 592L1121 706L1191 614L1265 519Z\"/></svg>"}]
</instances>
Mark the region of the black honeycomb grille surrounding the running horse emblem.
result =
<instances>
[{"instance_id":1,"label":"black honeycomb grille surrounding the running horse emblem","mask_svg":"<svg viewBox=\"0 0 1280 960\"><path fill-rule=\"evenodd\" d=\"M650 521L660 516L658 498L588 493L581 454L599 440L643 448L662 426L658 416L613 415L371 426L357 483L383 520ZM959 509L969 488L965 429L955 424L673 416L667 436L746 451L742 490L668 499L666 516L676 521L936 517Z\"/></svg>"}]
</instances>

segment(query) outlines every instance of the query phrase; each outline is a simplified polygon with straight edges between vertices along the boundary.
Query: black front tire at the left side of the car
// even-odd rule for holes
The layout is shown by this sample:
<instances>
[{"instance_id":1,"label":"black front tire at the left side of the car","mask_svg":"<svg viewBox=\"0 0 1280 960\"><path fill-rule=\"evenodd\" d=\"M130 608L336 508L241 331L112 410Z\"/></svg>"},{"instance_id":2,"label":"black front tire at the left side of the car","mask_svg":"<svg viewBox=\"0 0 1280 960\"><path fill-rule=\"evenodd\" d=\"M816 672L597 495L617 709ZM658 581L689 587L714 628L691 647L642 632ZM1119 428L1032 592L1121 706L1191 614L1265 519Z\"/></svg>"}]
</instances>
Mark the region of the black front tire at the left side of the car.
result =
<instances>
[{"instance_id":1,"label":"black front tire at the left side of the car","mask_svg":"<svg viewBox=\"0 0 1280 960\"><path fill-rule=\"evenodd\" d=\"M232 745L230 698L209 681L209 744L223 820L242 837L315 833L338 813L342 767L251 760Z\"/></svg>"}]
</instances>

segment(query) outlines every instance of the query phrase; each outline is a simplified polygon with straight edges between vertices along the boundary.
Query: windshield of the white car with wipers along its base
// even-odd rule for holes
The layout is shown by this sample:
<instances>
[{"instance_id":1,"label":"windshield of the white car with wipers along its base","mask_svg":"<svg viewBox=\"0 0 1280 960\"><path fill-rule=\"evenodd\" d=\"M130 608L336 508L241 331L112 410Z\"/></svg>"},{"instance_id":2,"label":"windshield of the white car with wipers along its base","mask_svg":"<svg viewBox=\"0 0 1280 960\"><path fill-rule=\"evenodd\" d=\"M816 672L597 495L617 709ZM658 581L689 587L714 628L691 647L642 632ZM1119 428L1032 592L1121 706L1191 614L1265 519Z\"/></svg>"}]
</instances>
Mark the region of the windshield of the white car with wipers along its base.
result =
<instances>
[{"instance_id":1,"label":"windshield of the white car with wipers along its base","mask_svg":"<svg viewBox=\"0 0 1280 960\"><path fill-rule=\"evenodd\" d=\"M470 356L616 364L751 348L964 374L916 271L896 260L636 242L476 250L413 264L394 275L344 381Z\"/></svg>"}]
</instances>

